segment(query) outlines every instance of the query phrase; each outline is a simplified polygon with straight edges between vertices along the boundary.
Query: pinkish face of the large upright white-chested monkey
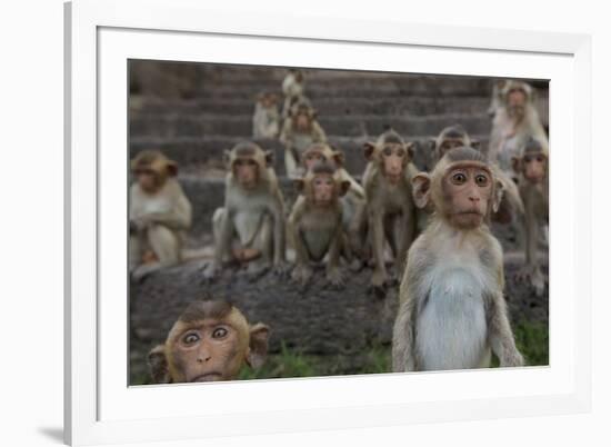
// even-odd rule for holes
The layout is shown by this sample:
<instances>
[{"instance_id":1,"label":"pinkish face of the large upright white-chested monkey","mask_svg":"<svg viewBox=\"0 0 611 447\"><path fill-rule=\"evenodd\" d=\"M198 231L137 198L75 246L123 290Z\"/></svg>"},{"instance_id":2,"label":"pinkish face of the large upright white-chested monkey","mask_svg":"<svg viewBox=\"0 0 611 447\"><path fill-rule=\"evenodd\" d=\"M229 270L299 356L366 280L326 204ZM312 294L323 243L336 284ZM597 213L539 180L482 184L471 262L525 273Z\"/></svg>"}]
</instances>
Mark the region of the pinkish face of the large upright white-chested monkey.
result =
<instances>
[{"instance_id":1,"label":"pinkish face of the large upright white-chested monkey","mask_svg":"<svg viewBox=\"0 0 611 447\"><path fill-rule=\"evenodd\" d=\"M443 178L443 192L450 222L463 229L477 228L488 213L492 176L480 166L454 167Z\"/></svg>"}]
</instances>

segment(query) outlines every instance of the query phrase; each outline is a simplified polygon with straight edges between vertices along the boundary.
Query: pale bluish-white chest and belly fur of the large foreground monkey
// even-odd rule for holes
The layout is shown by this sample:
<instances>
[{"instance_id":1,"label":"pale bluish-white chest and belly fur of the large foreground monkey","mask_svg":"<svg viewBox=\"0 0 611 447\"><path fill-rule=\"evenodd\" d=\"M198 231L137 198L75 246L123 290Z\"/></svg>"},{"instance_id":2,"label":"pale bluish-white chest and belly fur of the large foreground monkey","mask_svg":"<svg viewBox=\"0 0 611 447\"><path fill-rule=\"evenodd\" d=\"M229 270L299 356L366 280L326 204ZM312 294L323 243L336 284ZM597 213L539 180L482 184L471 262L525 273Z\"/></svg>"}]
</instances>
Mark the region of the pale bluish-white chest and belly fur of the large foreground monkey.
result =
<instances>
[{"instance_id":1,"label":"pale bluish-white chest and belly fur of the large foreground monkey","mask_svg":"<svg viewBox=\"0 0 611 447\"><path fill-rule=\"evenodd\" d=\"M478 252L465 247L427 272L415 328L419 369L488 366L484 292L490 279L481 267Z\"/></svg>"}]
</instances>

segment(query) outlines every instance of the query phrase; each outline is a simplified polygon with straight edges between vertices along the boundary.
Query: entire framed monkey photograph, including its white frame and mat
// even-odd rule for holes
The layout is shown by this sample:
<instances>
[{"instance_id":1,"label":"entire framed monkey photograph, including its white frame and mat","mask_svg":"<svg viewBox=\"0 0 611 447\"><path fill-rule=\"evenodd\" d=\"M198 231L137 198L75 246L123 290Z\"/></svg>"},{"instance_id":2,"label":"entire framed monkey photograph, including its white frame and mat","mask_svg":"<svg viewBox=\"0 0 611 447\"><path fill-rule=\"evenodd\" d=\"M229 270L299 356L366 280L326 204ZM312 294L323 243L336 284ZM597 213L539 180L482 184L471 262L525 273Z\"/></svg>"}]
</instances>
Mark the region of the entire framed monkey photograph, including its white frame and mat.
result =
<instances>
[{"instance_id":1,"label":"entire framed monkey photograph, including its white frame and mat","mask_svg":"<svg viewBox=\"0 0 611 447\"><path fill-rule=\"evenodd\" d=\"M77 0L66 49L68 444L589 410L588 36Z\"/></svg>"}]
</instances>

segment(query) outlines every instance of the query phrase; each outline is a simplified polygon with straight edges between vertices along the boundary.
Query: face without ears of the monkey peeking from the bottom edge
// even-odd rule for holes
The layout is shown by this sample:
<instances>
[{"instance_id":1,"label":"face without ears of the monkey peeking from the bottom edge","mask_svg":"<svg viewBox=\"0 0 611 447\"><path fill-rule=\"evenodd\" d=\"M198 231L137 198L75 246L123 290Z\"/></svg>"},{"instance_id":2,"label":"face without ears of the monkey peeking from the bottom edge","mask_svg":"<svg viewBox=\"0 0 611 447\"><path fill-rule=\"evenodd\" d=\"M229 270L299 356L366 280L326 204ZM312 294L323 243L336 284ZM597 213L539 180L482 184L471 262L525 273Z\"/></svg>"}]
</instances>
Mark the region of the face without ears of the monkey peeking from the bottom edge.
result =
<instances>
[{"instance_id":1,"label":"face without ears of the monkey peeking from the bottom edge","mask_svg":"<svg viewBox=\"0 0 611 447\"><path fill-rule=\"evenodd\" d=\"M234 378L246 357L239 338L239 331L222 320L206 319L188 326L172 347L172 361L184 376L181 381Z\"/></svg>"}]
</instances>

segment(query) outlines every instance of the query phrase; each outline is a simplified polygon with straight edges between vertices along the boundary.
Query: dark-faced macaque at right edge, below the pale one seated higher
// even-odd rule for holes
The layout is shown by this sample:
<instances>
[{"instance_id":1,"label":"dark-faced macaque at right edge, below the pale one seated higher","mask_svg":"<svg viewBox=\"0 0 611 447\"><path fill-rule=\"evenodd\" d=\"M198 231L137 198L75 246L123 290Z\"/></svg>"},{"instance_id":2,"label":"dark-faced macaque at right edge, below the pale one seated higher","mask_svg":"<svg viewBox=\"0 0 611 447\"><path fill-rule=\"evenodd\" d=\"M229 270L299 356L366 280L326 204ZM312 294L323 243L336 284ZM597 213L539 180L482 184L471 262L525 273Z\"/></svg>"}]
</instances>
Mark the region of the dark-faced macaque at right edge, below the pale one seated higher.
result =
<instances>
[{"instance_id":1,"label":"dark-faced macaque at right edge, below the pale one seated higher","mask_svg":"<svg viewBox=\"0 0 611 447\"><path fill-rule=\"evenodd\" d=\"M514 157L512 161L525 209L527 264L518 274L518 278L530 280L537 295L541 296L545 287L545 278L539 265L537 246L539 231L547 230L549 219L548 151L540 141L530 139L523 146L519 157Z\"/></svg>"}]
</instances>

